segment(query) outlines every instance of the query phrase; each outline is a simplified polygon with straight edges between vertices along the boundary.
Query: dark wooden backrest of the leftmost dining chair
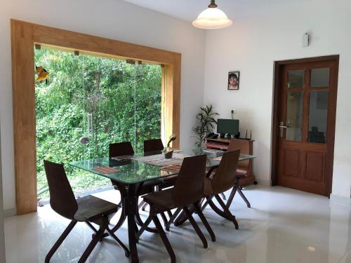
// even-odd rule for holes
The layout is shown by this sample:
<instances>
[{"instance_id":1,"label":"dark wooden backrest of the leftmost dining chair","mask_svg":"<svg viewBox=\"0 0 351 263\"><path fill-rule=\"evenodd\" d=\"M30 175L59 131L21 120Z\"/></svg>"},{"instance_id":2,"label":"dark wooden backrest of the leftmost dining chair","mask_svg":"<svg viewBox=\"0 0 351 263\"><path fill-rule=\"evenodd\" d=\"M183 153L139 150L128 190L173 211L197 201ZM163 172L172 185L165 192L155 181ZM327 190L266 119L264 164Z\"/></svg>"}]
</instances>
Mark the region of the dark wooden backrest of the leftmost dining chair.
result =
<instances>
[{"instance_id":1,"label":"dark wooden backrest of the leftmost dining chair","mask_svg":"<svg viewBox=\"0 0 351 263\"><path fill-rule=\"evenodd\" d=\"M45 160L44 168L48 179L51 208L59 215L62 215L62 217L74 220L74 214L78 210L78 205L68 182L65 168L62 164Z\"/></svg>"}]
</instances>

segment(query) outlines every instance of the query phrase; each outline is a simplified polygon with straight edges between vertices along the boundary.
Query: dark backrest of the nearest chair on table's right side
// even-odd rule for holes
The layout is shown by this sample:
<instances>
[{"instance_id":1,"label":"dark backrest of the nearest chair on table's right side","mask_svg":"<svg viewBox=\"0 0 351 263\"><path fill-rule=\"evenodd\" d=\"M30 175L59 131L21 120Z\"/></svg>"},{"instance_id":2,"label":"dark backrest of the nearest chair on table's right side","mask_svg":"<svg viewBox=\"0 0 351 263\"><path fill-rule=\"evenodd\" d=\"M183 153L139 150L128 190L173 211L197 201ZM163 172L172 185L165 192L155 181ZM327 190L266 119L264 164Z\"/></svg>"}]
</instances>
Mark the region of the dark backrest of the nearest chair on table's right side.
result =
<instances>
[{"instance_id":1,"label":"dark backrest of the nearest chair on table's right side","mask_svg":"<svg viewBox=\"0 0 351 263\"><path fill-rule=\"evenodd\" d=\"M205 176L206 155L185 158L172 191L175 204L184 206L201 199Z\"/></svg>"}]
</instances>

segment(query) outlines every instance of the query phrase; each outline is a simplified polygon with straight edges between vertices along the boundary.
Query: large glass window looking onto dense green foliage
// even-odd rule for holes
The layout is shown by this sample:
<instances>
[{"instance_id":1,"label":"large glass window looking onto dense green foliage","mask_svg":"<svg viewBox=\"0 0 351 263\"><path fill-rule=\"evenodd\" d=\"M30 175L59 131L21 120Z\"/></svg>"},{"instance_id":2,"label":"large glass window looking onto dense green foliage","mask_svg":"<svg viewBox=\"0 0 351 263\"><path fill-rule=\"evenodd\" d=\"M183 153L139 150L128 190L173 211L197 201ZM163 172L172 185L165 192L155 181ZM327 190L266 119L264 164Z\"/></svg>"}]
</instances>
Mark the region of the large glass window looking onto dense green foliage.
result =
<instances>
[{"instance_id":1,"label":"large glass window looking onto dense green foliage","mask_svg":"<svg viewBox=\"0 0 351 263\"><path fill-rule=\"evenodd\" d=\"M34 50L34 64L49 74L35 86L39 197L48 194L44 159L107 156L110 143L124 141L143 151L143 140L161 137L160 65L46 48ZM66 168L76 193L110 184Z\"/></svg>"}]
</instances>

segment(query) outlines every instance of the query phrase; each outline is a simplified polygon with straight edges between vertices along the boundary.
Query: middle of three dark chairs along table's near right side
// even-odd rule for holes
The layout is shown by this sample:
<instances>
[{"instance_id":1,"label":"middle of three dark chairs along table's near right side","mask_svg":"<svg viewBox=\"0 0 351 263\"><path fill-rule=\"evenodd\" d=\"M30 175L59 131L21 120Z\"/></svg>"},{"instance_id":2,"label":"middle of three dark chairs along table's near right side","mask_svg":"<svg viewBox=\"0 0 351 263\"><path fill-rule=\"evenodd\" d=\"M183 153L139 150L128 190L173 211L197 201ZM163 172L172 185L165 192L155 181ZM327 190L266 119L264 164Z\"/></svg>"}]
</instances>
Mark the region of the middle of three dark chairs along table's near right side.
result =
<instances>
[{"instance_id":1,"label":"middle of three dark chairs along table's near right side","mask_svg":"<svg viewBox=\"0 0 351 263\"><path fill-rule=\"evenodd\" d=\"M233 183L236 180L235 170L237 170L237 164L239 161L240 150L227 151L223 154L220 164L213 174L211 171L207 174L204 184L204 193L206 195L206 203L202 206L201 210L204 210L206 205L210 205L211 208L234 223L235 229L239 229L239 225L235 216L230 213L229 208L225 205L219 194L227 191L233 187ZM223 210L220 210L212 199L216 198Z\"/></svg>"}]
</instances>

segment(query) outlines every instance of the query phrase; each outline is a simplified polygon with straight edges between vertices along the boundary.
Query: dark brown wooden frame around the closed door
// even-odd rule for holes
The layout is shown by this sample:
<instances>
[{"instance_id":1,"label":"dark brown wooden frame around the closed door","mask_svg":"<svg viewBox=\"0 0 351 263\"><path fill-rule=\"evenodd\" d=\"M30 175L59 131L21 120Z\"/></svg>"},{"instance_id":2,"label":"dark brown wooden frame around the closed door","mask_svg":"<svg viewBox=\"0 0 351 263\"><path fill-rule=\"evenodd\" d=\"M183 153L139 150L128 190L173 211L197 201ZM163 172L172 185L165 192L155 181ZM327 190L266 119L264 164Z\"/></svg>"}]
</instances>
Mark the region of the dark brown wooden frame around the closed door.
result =
<instances>
[{"instance_id":1,"label":"dark brown wooden frame around the closed door","mask_svg":"<svg viewBox=\"0 0 351 263\"><path fill-rule=\"evenodd\" d=\"M280 90L280 86L282 85L282 79L280 79L282 69L285 65L291 64L299 64L299 63L306 63L306 62L321 62L321 61L335 61L336 62L336 95L338 92L338 70L339 70L339 59L340 55L326 55L322 57L315 57L315 58L300 58L295 60L279 60L274 61L274 86L273 86L273 120L272 120L272 161L271 161L271 182L272 186L277 185L277 178L278 178L278 142L279 142L279 106L280 100L282 99L282 94ZM337 96L335 97L335 100ZM336 104L333 110L333 115L336 116ZM331 151L331 177L326 182L326 188L328 189L328 196L331 194L331 187L333 182L333 158L334 158L334 142L335 142L335 118L334 121L331 122L331 132L329 136L333 137L334 140L330 145Z\"/></svg>"}]
</instances>

